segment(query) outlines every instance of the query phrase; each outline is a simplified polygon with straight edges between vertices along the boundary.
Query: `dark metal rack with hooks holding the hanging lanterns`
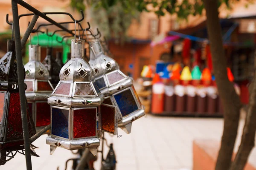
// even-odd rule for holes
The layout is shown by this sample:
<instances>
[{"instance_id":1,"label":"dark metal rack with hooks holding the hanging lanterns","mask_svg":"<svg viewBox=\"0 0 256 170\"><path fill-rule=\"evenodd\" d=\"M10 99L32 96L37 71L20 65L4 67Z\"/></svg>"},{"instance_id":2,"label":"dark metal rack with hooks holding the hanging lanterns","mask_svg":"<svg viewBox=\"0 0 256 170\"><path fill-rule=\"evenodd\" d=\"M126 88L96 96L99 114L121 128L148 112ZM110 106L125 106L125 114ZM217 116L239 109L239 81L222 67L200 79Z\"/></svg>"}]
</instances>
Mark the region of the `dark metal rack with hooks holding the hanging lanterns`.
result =
<instances>
[{"instance_id":1,"label":"dark metal rack with hooks holding the hanging lanterns","mask_svg":"<svg viewBox=\"0 0 256 170\"><path fill-rule=\"evenodd\" d=\"M18 15L18 4L20 6L23 6L24 8L28 9L32 13L30 14L22 14ZM41 135L43 135L47 130L50 129L50 125L44 127L42 130L40 130L38 133L36 133L34 136L29 138L29 129L28 129L28 120L27 120L27 115L26 115L26 96L25 96L25 87L24 87L24 73L23 73L23 62L22 62L22 56L21 56L21 49L25 46L26 41L29 38L29 35L31 33L35 33L39 31L39 28L41 26L50 26L50 25L55 25L58 28L61 29L61 31L66 31L67 33L71 35L75 35L72 30L69 30L65 28L62 24L66 23L80 23L82 20L84 20L84 13L81 11L81 19L80 20L75 20L74 17L67 13L67 12L41 12L38 11L38 9L30 6L28 3L24 2L23 0L12 0L12 14L13 14L13 23L9 22L9 15L6 15L6 22L9 23L10 25L13 24L14 27L14 39L15 39L15 52L16 52L16 58L17 58L17 76L18 76L18 85L19 85L19 94L20 94L20 108L21 108L21 119L22 119L22 128L23 128L23 139L24 139L24 149L25 149L25 157L26 157L26 169L27 170L32 170L32 162L31 162L31 153L30 153L30 144L34 142L36 139L38 139ZM64 22L64 23L58 23L55 20L52 20L50 17L47 15L49 14L65 14L69 15L70 18L73 20L73 22ZM32 20L29 23L29 26L27 27L23 38L20 39L20 24L19 24L19 19L20 17L24 16L33 16ZM33 29L35 26L35 23L38 20L38 17L43 18L44 20L48 21L49 24L42 24L38 26L38 28ZM82 28L82 27L81 27ZM90 28L86 28L85 30L89 30ZM87 150L84 151L83 156L87 155ZM79 162L78 167L81 167L84 161L83 156L81 157L81 161Z\"/></svg>"}]
</instances>

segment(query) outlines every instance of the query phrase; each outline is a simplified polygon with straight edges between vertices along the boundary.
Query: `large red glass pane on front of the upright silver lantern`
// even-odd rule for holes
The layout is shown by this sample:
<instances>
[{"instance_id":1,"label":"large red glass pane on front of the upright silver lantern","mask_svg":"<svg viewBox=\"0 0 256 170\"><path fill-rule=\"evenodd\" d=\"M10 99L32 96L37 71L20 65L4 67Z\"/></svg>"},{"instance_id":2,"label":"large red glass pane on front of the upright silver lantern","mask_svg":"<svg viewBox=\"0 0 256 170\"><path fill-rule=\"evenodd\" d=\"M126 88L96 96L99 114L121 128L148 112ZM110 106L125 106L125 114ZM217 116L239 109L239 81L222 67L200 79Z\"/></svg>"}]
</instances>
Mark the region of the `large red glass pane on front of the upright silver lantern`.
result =
<instances>
[{"instance_id":1,"label":"large red glass pane on front of the upright silver lantern","mask_svg":"<svg viewBox=\"0 0 256 170\"><path fill-rule=\"evenodd\" d=\"M74 138L96 136L96 108L74 110Z\"/></svg>"}]
</instances>

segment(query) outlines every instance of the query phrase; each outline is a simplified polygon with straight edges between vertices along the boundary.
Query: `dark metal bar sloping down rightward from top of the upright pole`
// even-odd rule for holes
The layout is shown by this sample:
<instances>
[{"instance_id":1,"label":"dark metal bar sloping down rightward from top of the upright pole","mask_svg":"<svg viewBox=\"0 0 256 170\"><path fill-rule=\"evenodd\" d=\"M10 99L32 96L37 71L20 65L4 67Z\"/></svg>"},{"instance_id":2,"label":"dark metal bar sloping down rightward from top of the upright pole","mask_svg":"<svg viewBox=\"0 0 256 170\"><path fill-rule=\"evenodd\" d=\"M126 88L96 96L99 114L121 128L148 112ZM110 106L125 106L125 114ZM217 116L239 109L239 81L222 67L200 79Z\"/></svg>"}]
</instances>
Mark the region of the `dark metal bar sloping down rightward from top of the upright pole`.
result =
<instances>
[{"instance_id":1,"label":"dark metal bar sloping down rightward from top of the upright pole","mask_svg":"<svg viewBox=\"0 0 256 170\"><path fill-rule=\"evenodd\" d=\"M38 11L36 8L30 6L28 3L24 2L23 0L18 0L18 4L20 4L21 6L23 6L24 8L27 8L29 11L37 14L39 17L44 18L45 20L47 20L49 23L54 24L55 26L57 26L58 28L63 29L64 31L67 31L68 33L74 35L74 33L72 31L70 31L69 29L65 28L64 26L61 26L61 24L57 23L56 21L52 20L51 18L47 17L46 14Z\"/></svg>"}]
</instances>

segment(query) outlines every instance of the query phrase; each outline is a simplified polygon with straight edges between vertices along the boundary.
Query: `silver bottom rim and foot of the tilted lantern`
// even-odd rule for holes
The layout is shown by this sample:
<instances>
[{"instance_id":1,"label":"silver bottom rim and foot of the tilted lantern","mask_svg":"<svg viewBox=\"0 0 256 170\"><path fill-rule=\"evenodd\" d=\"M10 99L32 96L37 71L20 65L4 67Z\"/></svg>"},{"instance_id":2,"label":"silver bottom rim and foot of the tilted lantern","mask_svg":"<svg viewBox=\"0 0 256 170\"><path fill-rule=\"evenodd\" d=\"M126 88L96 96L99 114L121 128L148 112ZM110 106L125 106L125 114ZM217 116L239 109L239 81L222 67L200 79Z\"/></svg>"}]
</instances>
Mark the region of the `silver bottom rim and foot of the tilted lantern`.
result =
<instances>
[{"instance_id":1,"label":"silver bottom rim and foot of the tilted lantern","mask_svg":"<svg viewBox=\"0 0 256 170\"><path fill-rule=\"evenodd\" d=\"M134 120L137 120L144 115L145 115L144 109L134 111L133 113L123 117L122 120L119 120L118 127L120 127L127 134L129 134L131 133L131 127L128 124L131 124Z\"/></svg>"}]
</instances>

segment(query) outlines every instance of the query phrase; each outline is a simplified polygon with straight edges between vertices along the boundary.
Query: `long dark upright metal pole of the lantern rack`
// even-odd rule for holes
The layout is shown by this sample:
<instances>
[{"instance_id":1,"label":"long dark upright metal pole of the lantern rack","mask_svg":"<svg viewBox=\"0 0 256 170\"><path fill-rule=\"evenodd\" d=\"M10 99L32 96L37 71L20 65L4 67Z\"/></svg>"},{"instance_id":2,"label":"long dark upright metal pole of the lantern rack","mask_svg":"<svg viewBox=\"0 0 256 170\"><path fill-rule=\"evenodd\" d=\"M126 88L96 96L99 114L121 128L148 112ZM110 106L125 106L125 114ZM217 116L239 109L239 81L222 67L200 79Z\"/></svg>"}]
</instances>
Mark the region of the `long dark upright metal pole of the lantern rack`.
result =
<instances>
[{"instance_id":1,"label":"long dark upright metal pole of the lantern rack","mask_svg":"<svg viewBox=\"0 0 256 170\"><path fill-rule=\"evenodd\" d=\"M17 74L18 74L18 85L20 92L20 110L21 110L21 121L23 129L23 139L26 157L26 169L32 170L31 155L30 155L30 142L29 142L29 126L27 120L26 111L26 95L24 87L24 73L23 73L23 63L21 56L21 45L20 45L20 23L17 1L12 0L12 15L13 15L13 26L14 26L14 36L15 36L15 53L17 59Z\"/></svg>"}]
</instances>

